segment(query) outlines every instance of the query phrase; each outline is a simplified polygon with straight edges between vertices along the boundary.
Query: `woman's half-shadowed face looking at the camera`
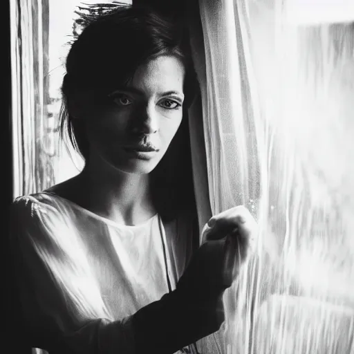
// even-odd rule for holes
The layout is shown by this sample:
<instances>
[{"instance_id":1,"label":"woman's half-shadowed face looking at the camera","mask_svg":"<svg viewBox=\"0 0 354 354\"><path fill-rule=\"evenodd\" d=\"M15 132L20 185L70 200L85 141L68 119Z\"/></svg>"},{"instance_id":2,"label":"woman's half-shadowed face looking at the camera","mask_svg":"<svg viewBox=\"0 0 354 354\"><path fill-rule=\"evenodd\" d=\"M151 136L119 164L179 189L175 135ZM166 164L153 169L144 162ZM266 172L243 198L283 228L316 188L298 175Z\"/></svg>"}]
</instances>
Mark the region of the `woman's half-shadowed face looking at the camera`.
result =
<instances>
[{"instance_id":1,"label":"woman's half-shadowed face looking at the camera","mask_svg":"<svg viewBox=\"0 0 354 354\"><path fill-rule=\"evenodd\" d=\"M162 56L138 68L132 80L109 94L105 104L80 102L90 145L90 163L148 174L164 156L182 120L185 69Z\"/></svg>"}]
</instances>

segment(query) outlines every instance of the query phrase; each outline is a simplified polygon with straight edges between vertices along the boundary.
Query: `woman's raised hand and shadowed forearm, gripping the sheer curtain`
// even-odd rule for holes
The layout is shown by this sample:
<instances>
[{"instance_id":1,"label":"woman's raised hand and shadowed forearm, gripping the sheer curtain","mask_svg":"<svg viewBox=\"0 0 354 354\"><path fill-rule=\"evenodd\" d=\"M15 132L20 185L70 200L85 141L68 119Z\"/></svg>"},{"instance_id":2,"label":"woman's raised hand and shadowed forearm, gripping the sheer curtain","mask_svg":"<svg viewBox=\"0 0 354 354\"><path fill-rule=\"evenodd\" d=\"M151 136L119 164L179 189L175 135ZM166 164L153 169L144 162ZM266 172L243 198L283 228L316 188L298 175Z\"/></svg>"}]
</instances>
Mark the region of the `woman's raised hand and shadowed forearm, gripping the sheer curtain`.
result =
<instances>
[{"instance_id":1,"label":"woman's raised hand and shadowed forearm, gripping the sheer curtain","mask_svg":"<svg viewBox=\"0 0 354 354\"><path fill-rule=\"evenodd\" d=\"M203 243L177 284L189 304L204 306L214 328L224 321L223 292L232 286L257 239L258 227L243 206L213 216L203 230Z\"/></svg>"}]
</instances>

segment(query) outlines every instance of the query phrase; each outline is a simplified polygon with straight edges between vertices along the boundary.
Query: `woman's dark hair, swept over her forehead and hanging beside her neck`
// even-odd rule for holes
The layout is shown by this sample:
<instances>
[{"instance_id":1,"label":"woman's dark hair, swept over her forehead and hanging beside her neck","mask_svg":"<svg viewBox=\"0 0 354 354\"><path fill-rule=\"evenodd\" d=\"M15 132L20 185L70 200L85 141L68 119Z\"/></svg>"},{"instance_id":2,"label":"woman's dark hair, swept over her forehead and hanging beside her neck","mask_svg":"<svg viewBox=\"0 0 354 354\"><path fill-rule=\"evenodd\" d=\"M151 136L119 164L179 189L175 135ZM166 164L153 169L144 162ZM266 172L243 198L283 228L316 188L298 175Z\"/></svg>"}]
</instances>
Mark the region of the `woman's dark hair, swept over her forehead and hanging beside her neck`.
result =
<instances>
[{"instance_id":1,"label":"woman's dark hair, swept over her forehead and hanging beside her neck","mask_svg":"<svg viewBox=\"0 0 354 354\"><path fill-rule=\"evenodd\" d=\"M62 84L60 133L68 134L73 147L88 160L88 141L82 120L68 111L71 93L97 88L110 93L109 82L126 84L138 66L160 55L178 57L185 66L183 120L165 156L151 172L154 203L166 218L194 203L192 162L187 107L192 103L197 81L189 49L189 35L183 21L172 21L146 6L122 3L97 4L77 12L84 29L75 38L66 59ZM114 62L113 62L114 60ZM118 62L117 62L118 60ZM114 77L115 80L109 80ZM104 92L102 92L104 93ZM157 191L158 189L158 191Z\"/></svg>"}]
</instances>

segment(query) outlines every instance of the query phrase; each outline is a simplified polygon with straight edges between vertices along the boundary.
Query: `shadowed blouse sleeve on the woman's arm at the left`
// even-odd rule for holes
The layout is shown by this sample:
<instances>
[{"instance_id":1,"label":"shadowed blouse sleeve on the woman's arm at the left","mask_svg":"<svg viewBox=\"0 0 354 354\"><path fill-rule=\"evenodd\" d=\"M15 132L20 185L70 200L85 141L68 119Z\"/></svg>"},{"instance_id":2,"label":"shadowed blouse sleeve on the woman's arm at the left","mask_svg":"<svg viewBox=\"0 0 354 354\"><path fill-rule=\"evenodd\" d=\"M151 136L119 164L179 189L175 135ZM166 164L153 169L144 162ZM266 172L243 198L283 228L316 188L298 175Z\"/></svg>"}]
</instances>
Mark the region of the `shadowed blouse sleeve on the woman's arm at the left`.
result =
<instances>
[{"instance_id":1,"label":"shadowed blouse sleeve on the woman's arm at the left","mask_svg":"<svg viewBox=\"0 0 354 354\"><path fill-rule=\"evenodd\" d=\"M28 346L50 354L130 354L134 352L132 317L115 321L75 313L68 296L44 261L41 251L55 243L44 227L50 212L38 207L30 196L17 198L10 212L10 252L15 274L15 295L19 306L17 337ZM60 232L60 230L50 230ZM59 251L58 251L59 252ZM50 257L66 262L60 254ZM22 328L22 329L21 329ZM21 339L19 339L21 340Z\"/></svg>"}]
</instances>

